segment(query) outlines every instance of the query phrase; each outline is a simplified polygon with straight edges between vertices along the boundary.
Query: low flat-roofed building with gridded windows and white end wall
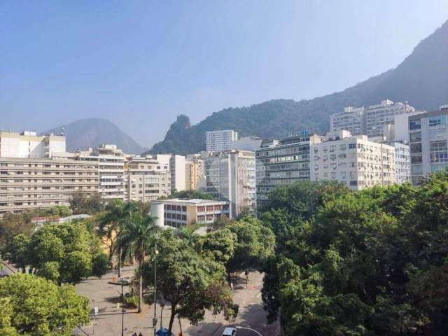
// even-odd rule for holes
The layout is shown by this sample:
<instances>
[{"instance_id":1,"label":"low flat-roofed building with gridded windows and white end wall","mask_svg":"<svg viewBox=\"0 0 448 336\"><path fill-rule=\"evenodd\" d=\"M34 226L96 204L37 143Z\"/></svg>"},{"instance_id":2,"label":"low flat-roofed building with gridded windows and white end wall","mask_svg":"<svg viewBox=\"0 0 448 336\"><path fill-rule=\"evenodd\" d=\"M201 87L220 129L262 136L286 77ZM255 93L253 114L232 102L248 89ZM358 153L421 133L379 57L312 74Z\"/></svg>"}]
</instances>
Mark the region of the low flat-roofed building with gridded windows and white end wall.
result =
<instances>
[{"instance_id":1,"label":"low flat-roofed building with gridded windows and white end wall","mask_svg":"<svg viewBox=\"0 0 448 336\"><path fill-rule=\"evenodd\" d=\"M157 217L155 225L160 228L180 228L194 222L213 223L221 216L231 215L228 202L174 199L152 202L151 216Z\"/></svg>"}]
</instances>

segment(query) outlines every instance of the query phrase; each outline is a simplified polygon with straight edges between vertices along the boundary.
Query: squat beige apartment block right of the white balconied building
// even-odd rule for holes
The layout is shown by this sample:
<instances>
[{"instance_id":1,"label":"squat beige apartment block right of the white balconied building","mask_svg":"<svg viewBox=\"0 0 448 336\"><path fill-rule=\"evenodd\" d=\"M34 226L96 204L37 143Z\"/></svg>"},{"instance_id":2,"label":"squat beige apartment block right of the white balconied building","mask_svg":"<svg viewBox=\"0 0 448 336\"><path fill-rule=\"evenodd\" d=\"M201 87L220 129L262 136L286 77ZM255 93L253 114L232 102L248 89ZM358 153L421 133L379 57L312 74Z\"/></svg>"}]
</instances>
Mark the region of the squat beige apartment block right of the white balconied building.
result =
<instances>
[{"instance_id":1,"label":"squat beige apartment block right of the white balconied building","mask_svg":"<svg viewBox=\"0 0 448 336\"><path fill-rule=\"evenodd\" d=\"M153 158L130 158L125 163L124 181L127 202L151 202L171 194L169 165Z\"/></svg>"}]
</instances>

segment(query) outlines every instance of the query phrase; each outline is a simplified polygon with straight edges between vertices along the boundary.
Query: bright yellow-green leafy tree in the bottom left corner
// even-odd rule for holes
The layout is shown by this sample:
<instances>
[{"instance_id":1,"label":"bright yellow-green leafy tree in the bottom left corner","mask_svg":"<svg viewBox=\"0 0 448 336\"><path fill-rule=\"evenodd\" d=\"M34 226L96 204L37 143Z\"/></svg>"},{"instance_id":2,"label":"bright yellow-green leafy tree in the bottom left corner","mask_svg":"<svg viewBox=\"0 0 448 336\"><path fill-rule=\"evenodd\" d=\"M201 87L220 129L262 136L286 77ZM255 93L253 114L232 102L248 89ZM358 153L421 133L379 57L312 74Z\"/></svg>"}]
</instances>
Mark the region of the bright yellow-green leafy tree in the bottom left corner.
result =
<instances>
[{"instance_id":1,"label":"bright yellow-green leafy tree in the bottom left corner","mask_svg":"<svg viewBox=\"0 0 448 336\"><path fill-rule=\"evenodd\" d=\"M73 286L57 286L38 276L0 279L0 297L0 330L6 330L1 335L69 336L90 321L87 297L77 295Z\"/></svg>"}]
</instances>

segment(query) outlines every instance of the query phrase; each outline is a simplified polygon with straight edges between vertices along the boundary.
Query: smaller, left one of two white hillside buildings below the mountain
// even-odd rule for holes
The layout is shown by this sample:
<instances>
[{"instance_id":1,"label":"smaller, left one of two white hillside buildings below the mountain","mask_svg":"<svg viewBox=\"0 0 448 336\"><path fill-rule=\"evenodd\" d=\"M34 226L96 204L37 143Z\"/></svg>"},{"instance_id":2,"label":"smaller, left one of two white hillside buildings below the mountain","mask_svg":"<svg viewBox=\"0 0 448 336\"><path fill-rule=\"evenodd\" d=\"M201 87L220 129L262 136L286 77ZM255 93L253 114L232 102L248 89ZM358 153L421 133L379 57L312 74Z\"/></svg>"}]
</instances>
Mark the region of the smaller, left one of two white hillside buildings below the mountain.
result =
<instances>
[{"instance_id":1,"label":"smaller, left one of two white hillside buildings below the mountain","mask_svg":"<svg viewBox=\"0 0 448 336\"><path fill-rule=\"evenodd\" d=\"M330 116L330 132L346 130L353 135L364 133L364 108L344 107L343 112Z\"/></svg>"}]
</instances>

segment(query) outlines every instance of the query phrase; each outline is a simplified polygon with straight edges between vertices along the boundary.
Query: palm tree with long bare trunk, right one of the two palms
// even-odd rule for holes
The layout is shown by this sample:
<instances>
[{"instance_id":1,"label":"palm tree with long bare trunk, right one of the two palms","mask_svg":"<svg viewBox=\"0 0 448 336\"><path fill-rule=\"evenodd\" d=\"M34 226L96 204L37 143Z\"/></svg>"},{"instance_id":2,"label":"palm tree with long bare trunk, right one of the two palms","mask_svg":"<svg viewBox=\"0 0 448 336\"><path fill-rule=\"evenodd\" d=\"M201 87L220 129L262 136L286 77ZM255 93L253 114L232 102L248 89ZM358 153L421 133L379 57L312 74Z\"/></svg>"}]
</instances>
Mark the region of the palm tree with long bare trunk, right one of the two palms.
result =
<instances>
[{"instance_id":1,"label":"palm tree with long bare trunk, right one of the two palms","mask_svg":"<svg viewBox=\"0 0 448 336\"><path fill-rule=\"evenodd\" d=\"M132 253L139 262L141 269L145 261L145 252L151 246L153 237L158 227L155 225L155 217L142 214L140 211L132 212L130 217L123 223L120 232L120 246L126 246L127 251ZM139 310L143 299L143 276L139 272Z\"/></svg>"}]
</instances>

